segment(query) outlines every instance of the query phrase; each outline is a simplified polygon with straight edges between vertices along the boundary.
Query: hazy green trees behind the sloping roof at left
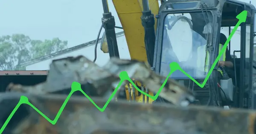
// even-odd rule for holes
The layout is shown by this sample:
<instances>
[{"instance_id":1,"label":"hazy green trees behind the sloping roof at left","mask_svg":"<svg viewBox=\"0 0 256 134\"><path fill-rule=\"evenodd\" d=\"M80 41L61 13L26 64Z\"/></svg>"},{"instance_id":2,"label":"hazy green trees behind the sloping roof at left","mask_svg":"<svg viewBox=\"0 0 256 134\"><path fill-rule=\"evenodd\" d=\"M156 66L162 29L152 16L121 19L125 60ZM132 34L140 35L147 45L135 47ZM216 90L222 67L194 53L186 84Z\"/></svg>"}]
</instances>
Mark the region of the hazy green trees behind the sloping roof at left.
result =
<instances>
[{"instance_id":1,"label":"hazy green trees behind the sloping roof at left","mask_svg":"<svg viewBox=\"0 0 256 134\"><path fill-rule=\"evenodd\" d=\"M67 48L67 41L32 40L23 34L0 36L0 70L25 70L20 64Z\"/></svg>"}]
</instances>

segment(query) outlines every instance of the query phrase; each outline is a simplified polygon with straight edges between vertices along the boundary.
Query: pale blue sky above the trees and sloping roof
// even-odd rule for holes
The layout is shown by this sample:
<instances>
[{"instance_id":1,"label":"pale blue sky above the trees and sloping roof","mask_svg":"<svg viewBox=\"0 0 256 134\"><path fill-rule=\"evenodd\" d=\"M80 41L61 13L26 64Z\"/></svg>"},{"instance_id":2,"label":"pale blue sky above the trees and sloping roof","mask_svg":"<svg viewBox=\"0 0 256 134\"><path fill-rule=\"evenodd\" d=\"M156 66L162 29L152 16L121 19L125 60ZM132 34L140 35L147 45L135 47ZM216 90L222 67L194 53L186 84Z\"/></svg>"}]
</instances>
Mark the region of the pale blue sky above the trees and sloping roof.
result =
<instances>
[{"instance_id":1,"label":"pale blue sky above the trees and sloping roof","mask_svg":"<svg viewBox=\"0 0 256 134\"><path fill-rule=\"evenodd\" d=\"M116 25L121 26L112 1L108 1ZM256 5L256 0L252 4ZM31 39L58 37L73 47L96 39L102 12L102 0L0 0L0 36L23 33Z\"/></svg>"}]
</instances>

